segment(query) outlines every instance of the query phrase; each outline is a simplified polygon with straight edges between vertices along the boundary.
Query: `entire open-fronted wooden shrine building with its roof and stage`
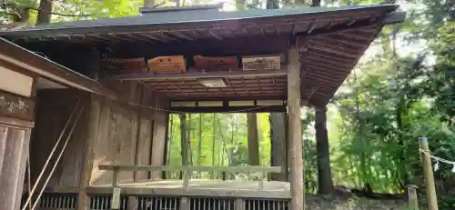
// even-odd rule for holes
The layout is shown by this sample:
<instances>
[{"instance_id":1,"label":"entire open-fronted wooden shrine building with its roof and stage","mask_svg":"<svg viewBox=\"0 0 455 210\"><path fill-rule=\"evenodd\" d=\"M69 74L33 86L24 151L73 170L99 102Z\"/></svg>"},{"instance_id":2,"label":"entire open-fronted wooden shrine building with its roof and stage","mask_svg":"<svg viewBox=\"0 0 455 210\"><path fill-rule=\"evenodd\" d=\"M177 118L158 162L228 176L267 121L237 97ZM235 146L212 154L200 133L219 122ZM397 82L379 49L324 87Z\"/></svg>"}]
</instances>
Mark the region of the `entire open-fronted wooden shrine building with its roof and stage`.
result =
<instances>
[{"instance_id":1,"label":"entire open-fronted wooden shrine building with its roof and stage","mask_svg":"<svg viewBox=\"0 0 455 210\"><path fill-rule=\"evenodd\" d=\"M21 194L35 209L302 209L300 107L329 102L397 7L144 8L0 31L1 209ZM201 112L288 113L288 160L167 167L168 115ZM212 170L290 174L191 180Z\"/></svg>"}]
</instances>

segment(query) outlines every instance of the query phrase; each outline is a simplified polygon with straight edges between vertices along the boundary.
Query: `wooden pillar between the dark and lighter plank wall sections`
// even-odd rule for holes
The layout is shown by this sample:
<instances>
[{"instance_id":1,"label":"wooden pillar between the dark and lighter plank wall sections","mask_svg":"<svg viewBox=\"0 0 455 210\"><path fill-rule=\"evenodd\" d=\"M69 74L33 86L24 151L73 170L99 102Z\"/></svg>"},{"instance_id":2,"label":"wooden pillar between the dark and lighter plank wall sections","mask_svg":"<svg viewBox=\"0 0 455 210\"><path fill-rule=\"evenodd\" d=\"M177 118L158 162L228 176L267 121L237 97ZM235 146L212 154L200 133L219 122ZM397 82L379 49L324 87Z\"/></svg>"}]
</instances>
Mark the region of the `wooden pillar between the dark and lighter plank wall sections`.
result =
<instances>
[{"instance_id":1,"label":"wooden pillar between the dark and lighter plank wall sections","mask_svg":"<svg viewBox=\"0 0 455 210\"><path fill-rule=\"evenodd\" d=\"M96 144L96 135L98 133L98 125L100 124L99 119L101 115L101 104L95 98L91 98L90 105L88 106L86 119L87 131L86 131L86 144L84 147L84 159L82 163L82 171L78 186L78 199L76 204L77 210L86 210L90 205L90 199L86 195L86 186L90 185L90 179L92 175L92 167L94 161L94 147Z\"/></svg>"}]
</instances>

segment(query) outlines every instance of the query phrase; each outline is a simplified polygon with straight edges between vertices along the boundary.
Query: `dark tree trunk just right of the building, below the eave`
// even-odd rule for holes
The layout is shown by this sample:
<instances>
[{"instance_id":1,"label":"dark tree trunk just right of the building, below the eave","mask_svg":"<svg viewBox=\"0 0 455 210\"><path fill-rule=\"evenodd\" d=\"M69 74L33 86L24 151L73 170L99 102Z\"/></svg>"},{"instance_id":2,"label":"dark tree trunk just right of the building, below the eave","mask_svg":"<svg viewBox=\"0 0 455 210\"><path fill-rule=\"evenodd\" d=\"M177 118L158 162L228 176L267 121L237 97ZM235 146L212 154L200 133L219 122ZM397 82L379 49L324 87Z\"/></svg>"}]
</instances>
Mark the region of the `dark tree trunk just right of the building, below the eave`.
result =
<instances>
[{"instance_id":1,"label":"dark tree trunk just right of the building, below the eave","mask_svg":"<svg viewBox=\"0 0 455 210\"><path fill-rule=\"evenodd\" d=\"M327 134L326 107L316 108L316 154L318 156L319 194L330 194L333 189L329 158L329 136Z\"/></svg>"}]
</instances>

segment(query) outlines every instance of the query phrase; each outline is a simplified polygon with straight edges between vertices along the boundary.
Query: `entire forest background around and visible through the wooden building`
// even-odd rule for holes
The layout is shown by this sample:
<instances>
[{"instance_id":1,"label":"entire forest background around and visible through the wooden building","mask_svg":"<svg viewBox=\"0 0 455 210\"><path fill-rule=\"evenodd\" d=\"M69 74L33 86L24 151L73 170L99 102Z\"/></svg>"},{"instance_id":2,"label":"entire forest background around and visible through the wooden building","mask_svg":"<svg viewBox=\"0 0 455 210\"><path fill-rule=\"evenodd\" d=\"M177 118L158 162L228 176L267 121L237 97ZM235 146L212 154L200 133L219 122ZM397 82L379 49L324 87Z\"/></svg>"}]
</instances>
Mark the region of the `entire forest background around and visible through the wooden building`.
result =
<instances>
[{"instance_id":1,"label":"entire forest background around and visible through the wooden building","mask_svg":"<svg viewBox=\"0 0 455 210\"><path fill-rule=\"evenodd\" d=\"M138 15L144 4L215 4L209 0L2 0L0 27ZM396 3L403 24L386 26L329 102L327 117L303 108L305 187L324 193L334 185L369 193L400 194L408 184L424 189L418 137L430 139L434 155L455 160L455 2L453 0L235 0L224 10L294 6ZM270 165L270 114L258 114L259 165ZM168 165L181 165L180 115L169 125ZM186 115L192 165L248 165L246 114ZM319 129L328 128L329 144ZM316 128L315 128L316 127ZM318 137L317 137L318 136ZM318 146L317 146L318 145ZM328 147L324 148L324 147ZM324 151L329 154L324 154ZM321 156L329 155L329 162ZM319 170L318 170L319 169ZM328 170L329 169L329 170ZM331 171L331 173L330 173ZM441 209L455 208L455 165L435 172ZM323 183L326 182L326 183ZM424 192L424 190L420 190ZM424 197L424 196L422 196Z\"/></svg>"}]
</instances>

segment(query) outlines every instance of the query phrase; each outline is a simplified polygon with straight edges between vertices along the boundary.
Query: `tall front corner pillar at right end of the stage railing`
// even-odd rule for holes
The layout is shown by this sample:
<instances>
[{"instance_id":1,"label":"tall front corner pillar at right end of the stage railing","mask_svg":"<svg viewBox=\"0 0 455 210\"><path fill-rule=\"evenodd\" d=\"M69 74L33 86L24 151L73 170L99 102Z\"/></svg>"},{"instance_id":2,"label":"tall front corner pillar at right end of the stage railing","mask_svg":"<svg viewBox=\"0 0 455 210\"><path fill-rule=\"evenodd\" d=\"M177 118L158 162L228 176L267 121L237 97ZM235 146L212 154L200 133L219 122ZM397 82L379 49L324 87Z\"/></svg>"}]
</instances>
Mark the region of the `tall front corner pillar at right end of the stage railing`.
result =
<instances>
[{"instance_id":1,"label":"tall front corner pillar at right end of the stage railing","mask_svg":"<svg viewBox=\"0 0 455 210\"><path fill-rule=\"evenodd\" d=\"M300 119L300 62L298 47L288 50L288 136L290 167L290 209L304 209L302 122Z\"/></svg>"}]
</instances>

